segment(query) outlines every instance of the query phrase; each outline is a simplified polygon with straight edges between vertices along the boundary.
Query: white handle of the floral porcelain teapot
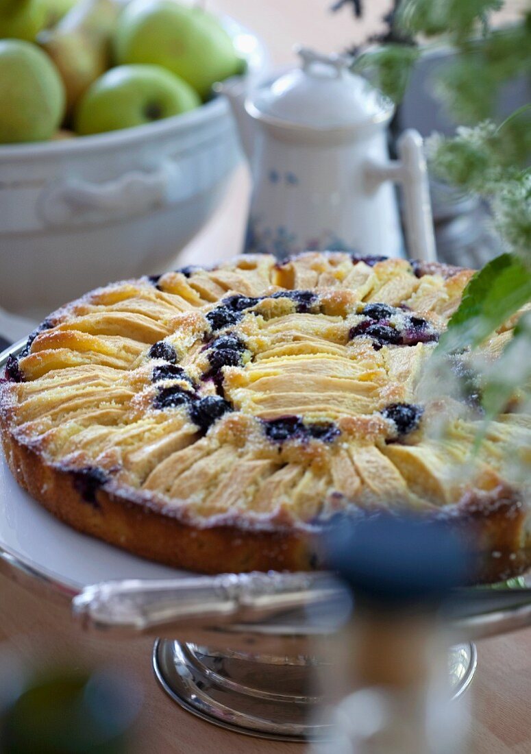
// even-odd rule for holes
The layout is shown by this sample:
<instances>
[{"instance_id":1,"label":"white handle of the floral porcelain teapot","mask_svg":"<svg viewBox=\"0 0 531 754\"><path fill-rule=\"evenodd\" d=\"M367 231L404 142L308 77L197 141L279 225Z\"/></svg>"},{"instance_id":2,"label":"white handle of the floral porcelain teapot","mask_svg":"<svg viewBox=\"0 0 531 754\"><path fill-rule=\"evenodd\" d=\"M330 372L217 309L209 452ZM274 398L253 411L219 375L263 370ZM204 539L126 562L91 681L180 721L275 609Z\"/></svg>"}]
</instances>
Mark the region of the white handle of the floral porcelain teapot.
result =
<instances>
[{"instance_id":1,"label":"white handle of the floral porcelain teapot","mask_svg":"<svg viewBox=\"0 0 531 754\"><path fill-rule=\"evenodd\" d=\"M409 128L401 134L396 146L398 160L390 160L385 164L369 163L365 169L366 177L374 188L386 180L401 183L404 190L404 225L409 256L421 262L436 262L423 138L417 130Z\"/></svg>"}]
</instances>

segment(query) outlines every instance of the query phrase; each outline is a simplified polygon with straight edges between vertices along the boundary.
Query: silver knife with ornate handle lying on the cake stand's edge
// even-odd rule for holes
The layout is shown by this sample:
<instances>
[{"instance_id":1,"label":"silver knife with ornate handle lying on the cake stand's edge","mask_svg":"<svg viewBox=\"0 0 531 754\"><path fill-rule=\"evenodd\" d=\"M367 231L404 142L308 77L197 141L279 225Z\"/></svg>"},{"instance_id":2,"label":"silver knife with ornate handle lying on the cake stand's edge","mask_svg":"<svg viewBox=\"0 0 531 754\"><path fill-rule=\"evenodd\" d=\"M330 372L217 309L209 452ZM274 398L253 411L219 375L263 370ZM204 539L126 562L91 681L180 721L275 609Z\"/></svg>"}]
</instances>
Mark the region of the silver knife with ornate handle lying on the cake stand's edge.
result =
<instances>
[{"instance_id":1,"label":"silver knife with ornate handle lying on the cake stand's edge","mask_svg":"<svg viewBox=\"0 0 531 754\"><path fill-rule=\"evenodd\" d=\"M75 618L86 630L194 642L204 636L224 645L240 633L246 648L253 636L302 647L305 638L334 633L351 607L346 590L328 573L107 581L85 587L72 600ZM531 588L454 590L443 618L456 639L531 626Z\"/></svg>"}]
</instances>

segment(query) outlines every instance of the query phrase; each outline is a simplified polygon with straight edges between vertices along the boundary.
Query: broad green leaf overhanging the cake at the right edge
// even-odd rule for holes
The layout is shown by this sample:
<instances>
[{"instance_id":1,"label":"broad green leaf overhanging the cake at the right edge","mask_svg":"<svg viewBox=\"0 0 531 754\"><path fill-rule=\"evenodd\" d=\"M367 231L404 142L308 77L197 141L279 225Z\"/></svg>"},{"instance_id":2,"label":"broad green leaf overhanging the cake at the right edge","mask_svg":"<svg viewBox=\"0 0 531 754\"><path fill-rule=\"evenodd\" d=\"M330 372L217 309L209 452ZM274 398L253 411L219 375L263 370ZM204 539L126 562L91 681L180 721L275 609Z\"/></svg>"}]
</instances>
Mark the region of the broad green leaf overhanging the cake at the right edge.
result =
<instances>
[{"instance_id":1,"label":"broad green leaf overhanging the cake at the right edge","mask_svg":"<svg viewBox=\"0 0 531 754\"><path fill-rule=\"evenodd\" d=\"M529 300L531 270L514 254L496 257L468 283L438 350L475 348Z\"/></svg>"}]
</instances>

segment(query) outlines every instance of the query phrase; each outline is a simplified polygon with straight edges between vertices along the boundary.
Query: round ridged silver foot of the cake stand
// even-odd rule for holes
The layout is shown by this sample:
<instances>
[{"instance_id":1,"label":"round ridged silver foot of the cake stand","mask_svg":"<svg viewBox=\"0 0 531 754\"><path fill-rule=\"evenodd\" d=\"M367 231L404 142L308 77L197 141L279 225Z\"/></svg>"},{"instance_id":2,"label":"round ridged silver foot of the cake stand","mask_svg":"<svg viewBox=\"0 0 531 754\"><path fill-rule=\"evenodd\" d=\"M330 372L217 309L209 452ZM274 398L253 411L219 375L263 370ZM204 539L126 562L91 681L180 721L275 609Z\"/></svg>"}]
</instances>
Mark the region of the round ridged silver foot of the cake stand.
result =
<instances>
[{"instance_id":1,"label":"round ridged silver foot of the cake stand","mask_svg":"<svg viewBox=\"0 0 531 754\"><path fill-rule=\"evenodd\" d=\"M474 676L475 644L456 645L448 657L456 698ZM157 639L153 648L155 676L185 710L230 731L282 741L326 736L326 727L315 722L323 700L308 695L318 662L217 652L170 639Z\"/></svg>"}]
</instances>

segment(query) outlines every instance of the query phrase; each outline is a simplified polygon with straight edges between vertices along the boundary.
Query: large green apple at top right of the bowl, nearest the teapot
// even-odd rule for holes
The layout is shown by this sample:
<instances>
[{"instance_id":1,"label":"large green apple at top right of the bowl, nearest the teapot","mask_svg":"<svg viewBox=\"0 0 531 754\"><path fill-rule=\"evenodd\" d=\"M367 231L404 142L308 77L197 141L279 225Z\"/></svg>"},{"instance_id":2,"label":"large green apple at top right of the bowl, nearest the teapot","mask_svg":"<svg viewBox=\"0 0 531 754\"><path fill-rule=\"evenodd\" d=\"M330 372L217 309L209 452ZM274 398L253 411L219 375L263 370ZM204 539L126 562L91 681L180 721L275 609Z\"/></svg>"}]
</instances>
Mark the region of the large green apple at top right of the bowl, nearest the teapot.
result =
<instances>
[{"instance_id":1,"label":"large green apple at top right of the bowl, nearest the teapot","mask_svg":"<svg viewBox=\"0 0 531 754\"><path fill-rule=\"evenodd\" d=\"M205 98L215 81L240 72L230 36L201 8L175 0L133 0L118 19L118 63L155 63L188 81Z\"/></svg>"}]
</instances>

